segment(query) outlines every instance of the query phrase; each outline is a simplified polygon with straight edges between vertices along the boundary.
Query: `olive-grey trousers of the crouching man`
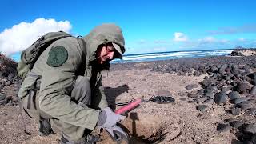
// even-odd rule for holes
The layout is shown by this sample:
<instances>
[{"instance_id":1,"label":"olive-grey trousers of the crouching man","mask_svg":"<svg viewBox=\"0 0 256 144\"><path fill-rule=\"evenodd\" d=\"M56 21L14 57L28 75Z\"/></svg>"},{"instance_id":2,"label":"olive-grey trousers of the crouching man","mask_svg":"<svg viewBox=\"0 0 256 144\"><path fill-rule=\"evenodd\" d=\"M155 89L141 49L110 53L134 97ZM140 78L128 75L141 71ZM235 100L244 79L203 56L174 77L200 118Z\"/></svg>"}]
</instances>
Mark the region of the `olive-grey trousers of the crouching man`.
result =
<instances>
[{"instance_id":1,"label":"olive-grey trousers of the crouching man","mask_svg":"<svg viewBox=\"0 0 256 144\"><path fill-rule=\"evenodd\" d=\"M36 91L37 93L37 91ZM66 122L62 122L57 118L52 118L50 115L42 112L38 106L38 97L37 94L32 94L22 98L22 105L24 110L30 117L39 119L39 129L40 124L44 122L49 122L54 129L54 132L62 132L66 135L66 138L72 141L82 141L86 137L86 134L90 134L90 130L80 126L74 126ZM79 106L85 107L90 106L91 103L91 90L90 82L86 77L78 76L76 82L74 82L74 88L71 92L71 100L76 102ZM28 106L30 104L30 106ZM28 108L29 107L29 108ZM40 119L46 121L42 122Z\"/></svg>"}]
</instances>

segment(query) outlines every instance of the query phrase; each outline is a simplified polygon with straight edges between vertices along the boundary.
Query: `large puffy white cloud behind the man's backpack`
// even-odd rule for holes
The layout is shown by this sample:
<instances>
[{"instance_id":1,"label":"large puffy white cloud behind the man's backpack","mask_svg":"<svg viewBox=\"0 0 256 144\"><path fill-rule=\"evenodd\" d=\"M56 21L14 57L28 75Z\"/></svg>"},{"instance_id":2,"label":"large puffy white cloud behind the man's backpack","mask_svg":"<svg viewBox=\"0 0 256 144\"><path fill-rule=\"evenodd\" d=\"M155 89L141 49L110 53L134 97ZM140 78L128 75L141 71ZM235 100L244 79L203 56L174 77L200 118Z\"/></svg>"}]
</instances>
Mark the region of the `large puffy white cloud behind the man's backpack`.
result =
<instances>
[{"instance_id":1,"label":"large puffy white cloud behind the man's backpack","mask_svg":"<svg viewBox=\"0 0 256 144\"><path fill-rule=\"evenodd\" d=\"M59 30L69 33L71 27L69 21L56 22L54 19L45 18L38 18L32 23L21 22L0 33L0 51L7 55L20 52L43 34Z\"/></svg>"}]
</instances>

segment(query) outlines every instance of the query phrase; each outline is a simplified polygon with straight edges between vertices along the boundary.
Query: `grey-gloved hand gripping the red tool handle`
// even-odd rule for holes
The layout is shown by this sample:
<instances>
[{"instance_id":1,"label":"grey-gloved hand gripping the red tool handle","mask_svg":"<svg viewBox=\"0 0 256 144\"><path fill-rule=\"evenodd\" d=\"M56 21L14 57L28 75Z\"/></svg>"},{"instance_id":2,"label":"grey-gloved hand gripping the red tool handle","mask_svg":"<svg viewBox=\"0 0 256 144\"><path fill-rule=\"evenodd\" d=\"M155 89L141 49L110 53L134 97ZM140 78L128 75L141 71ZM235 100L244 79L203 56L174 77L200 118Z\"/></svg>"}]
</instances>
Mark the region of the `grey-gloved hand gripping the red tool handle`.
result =
<instances>
[{"instance_id":1,"label":"grey-gloved hand gripping the red tool handle","mask_svg":"<svg viewBox=\"0 0 256 144\"><path fill-rule=\"evenodd\" d=\"M125 119L125 116L122 116L120 114L115 114L110 107L106 107L103 109L99 116L98 116L98 127L103 127L104 129L110 128L117 124L117 122L120 122L121 120Z\"/></svg>"}]
</instances>

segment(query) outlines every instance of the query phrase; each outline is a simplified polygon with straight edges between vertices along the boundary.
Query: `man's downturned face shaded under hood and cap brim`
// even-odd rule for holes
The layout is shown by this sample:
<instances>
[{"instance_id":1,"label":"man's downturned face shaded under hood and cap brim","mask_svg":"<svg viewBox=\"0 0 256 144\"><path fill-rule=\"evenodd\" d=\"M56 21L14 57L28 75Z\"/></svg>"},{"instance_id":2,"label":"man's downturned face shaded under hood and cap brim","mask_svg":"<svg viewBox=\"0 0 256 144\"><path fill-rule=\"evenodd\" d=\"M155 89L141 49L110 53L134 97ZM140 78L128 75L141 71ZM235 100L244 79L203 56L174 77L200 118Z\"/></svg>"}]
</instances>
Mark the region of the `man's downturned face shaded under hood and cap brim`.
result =
<instances>
[{"instance_id":1,"label":"man's downturned face shaded under hood and cap brim","mask_svg":"<svg viewBox=\"0 0 256 144\"><path fill-rule=\"evenodd\" d=\"M112 44L106 44L102 45L102 47L99 47L98 51L98 62L100 64L103 64L104 62L109 62L112 59L114 59L114 54L116 53L116 50L114 49L114 46Z\"/></svg>"}]
</instances>

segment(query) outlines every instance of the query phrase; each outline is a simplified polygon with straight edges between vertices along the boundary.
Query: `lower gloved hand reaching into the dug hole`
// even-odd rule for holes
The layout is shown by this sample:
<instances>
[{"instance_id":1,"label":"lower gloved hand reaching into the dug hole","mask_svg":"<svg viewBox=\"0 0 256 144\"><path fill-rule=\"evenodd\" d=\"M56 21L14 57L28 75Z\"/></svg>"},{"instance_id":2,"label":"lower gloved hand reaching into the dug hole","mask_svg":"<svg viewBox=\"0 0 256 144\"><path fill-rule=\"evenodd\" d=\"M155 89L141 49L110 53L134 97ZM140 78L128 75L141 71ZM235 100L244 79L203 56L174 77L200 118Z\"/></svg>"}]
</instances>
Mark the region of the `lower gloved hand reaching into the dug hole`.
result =
<instances>
[{"instance_id":1,"label":"lower gloved hand reaching into the dug hole","mask_svg":"<svg viewBox=\"0 0 256 144\"><path fill-rule=\"evenodd\" d=\"M121 127L114 125L105 129L114 141L122 142L123 140L129 142L128 135Z\"/></svg>"}]
</instances>

